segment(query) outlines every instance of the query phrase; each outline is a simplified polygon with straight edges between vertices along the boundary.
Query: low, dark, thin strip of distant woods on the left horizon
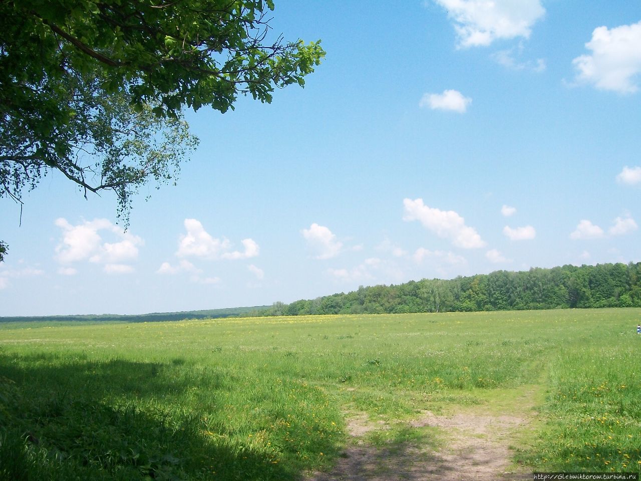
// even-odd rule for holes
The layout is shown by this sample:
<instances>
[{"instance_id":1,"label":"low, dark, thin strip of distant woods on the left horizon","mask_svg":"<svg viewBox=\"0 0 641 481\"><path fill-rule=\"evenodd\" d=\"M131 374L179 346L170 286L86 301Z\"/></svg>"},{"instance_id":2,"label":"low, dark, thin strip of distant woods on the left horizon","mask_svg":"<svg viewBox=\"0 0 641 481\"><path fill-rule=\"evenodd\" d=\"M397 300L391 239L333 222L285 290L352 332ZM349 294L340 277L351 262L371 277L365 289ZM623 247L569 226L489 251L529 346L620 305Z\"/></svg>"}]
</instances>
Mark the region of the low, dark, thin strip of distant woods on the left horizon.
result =
<instances>
[{"instance_id":1,"label":"low, dark, thin strip of distant woods on the left horizon","mask_svg":"<svg viewBox=\"0 0 641 481\"><path fill-rule=\"evenodd\" d=\"M54 322L102 322L120 321L123 323L149 323L158 321L183 321L185 319L219 319L221 317L249 316L249 313L261 312L270 306L231 307L211 310L189 310L184 312L153 312L151 314L136 314L121 316L119 314L86 314L81 316L29 316L29 317L0 317L0 323L54 321Z\"/></svg>"}]
</instances>

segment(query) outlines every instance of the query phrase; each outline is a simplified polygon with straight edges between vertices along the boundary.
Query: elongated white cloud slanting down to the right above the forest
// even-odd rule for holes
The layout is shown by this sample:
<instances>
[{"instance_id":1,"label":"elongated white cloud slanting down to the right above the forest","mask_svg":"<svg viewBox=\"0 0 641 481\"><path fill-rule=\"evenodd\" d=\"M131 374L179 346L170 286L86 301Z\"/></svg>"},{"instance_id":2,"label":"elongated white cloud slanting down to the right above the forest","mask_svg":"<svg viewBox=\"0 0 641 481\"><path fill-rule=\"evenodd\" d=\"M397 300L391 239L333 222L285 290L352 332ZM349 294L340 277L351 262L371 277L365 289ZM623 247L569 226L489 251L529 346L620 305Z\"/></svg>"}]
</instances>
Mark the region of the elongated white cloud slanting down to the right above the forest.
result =
<instances>
[{"instance_id":1,"label":"elongated white cloud slanting down to the right above the forest","mask_svg":"<svg viewBox=\"0 0 641 481\"><path fill-rule=\"evenodd\" d=\"M449 239L454 246L474 249L485 242L474 228L465 225L465 219L453 210L439 210L423 204L423 199L404 199L404 221L419 221L438 237Z\"/></svg>"}]
</instances>

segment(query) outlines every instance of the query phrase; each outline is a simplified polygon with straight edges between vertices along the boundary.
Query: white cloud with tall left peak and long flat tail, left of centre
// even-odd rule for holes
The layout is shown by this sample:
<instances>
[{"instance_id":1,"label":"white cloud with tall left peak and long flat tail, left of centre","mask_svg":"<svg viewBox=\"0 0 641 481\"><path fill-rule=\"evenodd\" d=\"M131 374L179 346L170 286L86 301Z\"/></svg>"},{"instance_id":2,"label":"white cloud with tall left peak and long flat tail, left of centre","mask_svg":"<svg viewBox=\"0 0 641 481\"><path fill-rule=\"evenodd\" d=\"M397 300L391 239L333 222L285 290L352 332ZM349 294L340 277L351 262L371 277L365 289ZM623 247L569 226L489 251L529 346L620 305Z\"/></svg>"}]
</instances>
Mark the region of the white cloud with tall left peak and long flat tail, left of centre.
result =
<instances>
[{"instance_id":1,"label":"white cloud with tall left peak and long flat tail, left of centre","mask_svg":"<svg viewBox=\"0 0 641 481\"><path fill-rule=\"evenodd\" d=\"M243 251L233 251L229 239L216 239L204 230L203 224L196 219L185 219L187 233L178 241L178 257L201 257L207 259L247 259L256 257L260 251L253 239L243 239Z\"/></svg>"}]
</instances>

